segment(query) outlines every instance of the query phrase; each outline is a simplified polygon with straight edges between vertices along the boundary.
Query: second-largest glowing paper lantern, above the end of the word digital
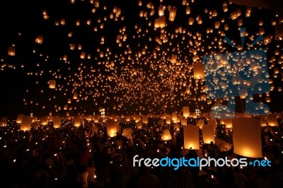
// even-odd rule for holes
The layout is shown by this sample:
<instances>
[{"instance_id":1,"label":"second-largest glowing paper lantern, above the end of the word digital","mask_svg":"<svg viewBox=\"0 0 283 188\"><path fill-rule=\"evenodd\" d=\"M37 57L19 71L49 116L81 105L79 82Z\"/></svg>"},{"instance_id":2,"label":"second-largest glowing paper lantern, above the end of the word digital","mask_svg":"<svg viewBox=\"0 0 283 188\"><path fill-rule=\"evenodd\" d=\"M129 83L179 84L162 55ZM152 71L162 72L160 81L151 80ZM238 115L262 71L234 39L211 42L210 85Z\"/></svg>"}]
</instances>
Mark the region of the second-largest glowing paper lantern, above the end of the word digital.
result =
<instances>
[{"instance_id":1,"label":"second-largest glowing paper lantern, above the end of the word digital","mask_svg":"<svg viewBox=\"0 0 283 188\"><path fill-rule=\"evenodd\" d=\"M184 148L200 149L200 129L195 125L184 127Z\"/></svg>"}]
</instances>

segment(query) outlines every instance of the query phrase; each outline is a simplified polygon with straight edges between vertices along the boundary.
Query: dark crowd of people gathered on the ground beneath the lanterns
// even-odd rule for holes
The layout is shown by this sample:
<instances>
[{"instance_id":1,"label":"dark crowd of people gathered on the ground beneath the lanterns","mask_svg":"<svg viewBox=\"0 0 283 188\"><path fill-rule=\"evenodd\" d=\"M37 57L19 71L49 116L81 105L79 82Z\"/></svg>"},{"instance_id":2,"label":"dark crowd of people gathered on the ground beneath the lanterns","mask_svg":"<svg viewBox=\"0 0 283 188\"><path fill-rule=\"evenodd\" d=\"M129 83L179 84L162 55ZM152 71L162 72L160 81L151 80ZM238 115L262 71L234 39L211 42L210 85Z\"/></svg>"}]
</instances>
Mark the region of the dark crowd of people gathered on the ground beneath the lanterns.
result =
<instances>
[{"instance_id":1,"label":"dark crowd of people gathered on the ground beneath the lanterns","mask_svg":"<svg viewBox=\"0 0 283 188\"><path fill-rule=\"evenodd\" d=\"M105 122L84 120L74 127L73 120L62 119L54 129L47 125L19 131L20 124L10 120L0 127L1 184L6 187L282 187L283 124L262 127L262 154L272 161L271 167L238 168L182 166L140 167L133 158L241 158L233 147L223 151L216 143L203 143L200 129L200 150L183 148L183 126L161 126L160 117L149 117L149 123L138 129L136 123L118 119L121 130L116 136L107 134ZM196 124L204 117L188 118ZM219 120L219 119L218 119ZM98 127L93 131L92 127ZM122 129L132 128L132 139ZM175 133L175 140L163 141L163 129ZM233 143L232 131L217 121L215 136Z\"/></svg>"}]
</instances>

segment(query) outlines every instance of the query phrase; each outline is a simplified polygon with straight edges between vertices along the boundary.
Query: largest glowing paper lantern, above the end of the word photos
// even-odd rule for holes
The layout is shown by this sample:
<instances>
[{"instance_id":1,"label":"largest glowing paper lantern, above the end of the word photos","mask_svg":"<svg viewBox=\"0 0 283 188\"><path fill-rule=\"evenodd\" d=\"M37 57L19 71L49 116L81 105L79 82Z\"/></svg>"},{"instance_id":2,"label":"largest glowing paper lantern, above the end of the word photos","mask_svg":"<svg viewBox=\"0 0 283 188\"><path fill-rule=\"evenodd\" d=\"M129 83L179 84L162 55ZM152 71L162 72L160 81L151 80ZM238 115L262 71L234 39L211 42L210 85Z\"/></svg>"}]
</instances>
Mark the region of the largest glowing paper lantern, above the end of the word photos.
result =
<instances>
[{"instance_id":1,"label":"largest glowing paper lantern, above the end of the word photos","mask_svg":"<svg viewBox=\"0 0 283 188\"><path fill-rule=\"evenodd\" d=\"M233 119L233 152L249 158L261 158L260 120L252 117Z\"/></svg>"}]
</instances>

